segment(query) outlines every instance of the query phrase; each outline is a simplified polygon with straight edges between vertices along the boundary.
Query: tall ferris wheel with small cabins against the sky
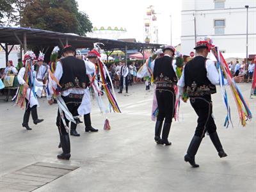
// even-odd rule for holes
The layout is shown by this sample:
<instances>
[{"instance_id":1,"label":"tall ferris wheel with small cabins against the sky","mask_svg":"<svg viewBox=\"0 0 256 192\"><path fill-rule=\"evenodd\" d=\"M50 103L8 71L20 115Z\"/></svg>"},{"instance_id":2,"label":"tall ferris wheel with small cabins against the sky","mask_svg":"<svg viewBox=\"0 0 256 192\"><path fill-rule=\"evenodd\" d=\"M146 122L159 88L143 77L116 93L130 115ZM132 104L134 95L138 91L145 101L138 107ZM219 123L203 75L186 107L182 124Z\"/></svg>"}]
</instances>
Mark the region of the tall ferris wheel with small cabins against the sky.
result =
<instances>
[{"instance_id":1,"label":"tall ferris wheel with small cabins against the sky","mask_svg":"<svg viewBox=\"0 0 256 192\"><path fill-rule=\"evenodd\" d=\"M154 6L150 5L147 8L147 17L144 19L144 40L146 44L158 44L158 28L156 20L157 17Z\"/></svg>"}]
</instances>

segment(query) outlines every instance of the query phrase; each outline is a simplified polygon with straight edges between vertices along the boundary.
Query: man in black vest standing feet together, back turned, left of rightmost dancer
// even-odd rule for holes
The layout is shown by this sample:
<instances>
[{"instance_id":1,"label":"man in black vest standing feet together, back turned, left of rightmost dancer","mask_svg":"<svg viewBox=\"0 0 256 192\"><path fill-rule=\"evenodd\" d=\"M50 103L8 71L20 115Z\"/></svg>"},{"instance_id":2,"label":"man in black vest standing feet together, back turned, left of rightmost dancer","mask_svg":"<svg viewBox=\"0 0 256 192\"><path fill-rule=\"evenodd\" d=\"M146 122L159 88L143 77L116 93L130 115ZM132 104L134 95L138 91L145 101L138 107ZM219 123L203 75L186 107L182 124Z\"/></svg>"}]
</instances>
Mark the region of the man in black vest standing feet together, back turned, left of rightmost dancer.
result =
<instances>
[{"instance_id":1,"label":"man in black vest standing feet together, back turned, left of rightmost dancer","mask_svg":"<svg viewBox=\"0 0 256 192\"><path fill-rule=\"evenodd\" d=\"M154 83L156 84L156 99L159 113L155 127L155 141L158 144L172 145L168 141L168 135L172 125L172 118L175 112L174 86L177 84L177 77L173 69L173 56L175 48L164 47L164 56L152 61ZM164 121L164 125L163 125ZM163 127L162 138L161 130Z\"/></svg>"}]
</instances>

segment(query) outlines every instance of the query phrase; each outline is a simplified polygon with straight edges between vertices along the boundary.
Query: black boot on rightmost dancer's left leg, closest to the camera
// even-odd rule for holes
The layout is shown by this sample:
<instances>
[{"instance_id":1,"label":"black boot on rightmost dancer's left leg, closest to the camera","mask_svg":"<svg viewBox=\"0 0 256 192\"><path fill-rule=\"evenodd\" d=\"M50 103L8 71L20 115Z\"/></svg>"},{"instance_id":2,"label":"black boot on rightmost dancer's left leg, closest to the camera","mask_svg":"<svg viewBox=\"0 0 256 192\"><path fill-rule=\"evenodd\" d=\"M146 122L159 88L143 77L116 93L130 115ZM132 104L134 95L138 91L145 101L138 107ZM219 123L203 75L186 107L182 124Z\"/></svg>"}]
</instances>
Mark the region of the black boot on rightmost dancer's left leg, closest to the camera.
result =
<instances>
[{"instance_id":1,"label":"black boot on rightmost dancer's left leg, closest to the camera","mask_svg":"<svg viewBox=\"0 0 256 192\"><path fill-rule=\"evenodd\" d=\"M194 168L199 166L199 164L195 163L195 155L200 146L201 141L202 141L202 138L198 136L193 136L189 144L187 154L184 157L184 161L189 162L191 166L193 166Z\"/></svg>"}]
</instances>

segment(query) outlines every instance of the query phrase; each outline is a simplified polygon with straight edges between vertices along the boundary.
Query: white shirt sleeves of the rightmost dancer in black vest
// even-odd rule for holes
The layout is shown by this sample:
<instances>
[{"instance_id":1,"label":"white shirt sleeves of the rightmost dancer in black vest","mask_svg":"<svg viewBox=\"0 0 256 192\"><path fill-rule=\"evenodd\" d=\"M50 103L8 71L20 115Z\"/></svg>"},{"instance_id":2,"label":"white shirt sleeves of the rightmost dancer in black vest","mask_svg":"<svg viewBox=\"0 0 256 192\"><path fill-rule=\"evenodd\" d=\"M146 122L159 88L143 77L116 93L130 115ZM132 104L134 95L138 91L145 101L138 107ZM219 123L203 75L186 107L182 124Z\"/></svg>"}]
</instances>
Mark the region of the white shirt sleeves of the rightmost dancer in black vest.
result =
<instances>
[{"instance_id":1,"label":"white shirt sleeves of the rightmost dancer in black vest","mask_svg":"<svg viewBox=\"0 0 256 192\"><path fill-rule=\"evenodd\" d=\"M200 56L200 55L198 55ZM220 77L217 68L214 65L214 61L206 60L205 61L205 68L207 71L207 78L211 81L212 84L218 85L220 84ZM224 80L224 84L227 84L227 80ZM183 93L183 87L185 86L185 79L184 79L184 70L182 71L182 75L177 83L179 86L180 95Z\"/></svg>"}]
</instances>

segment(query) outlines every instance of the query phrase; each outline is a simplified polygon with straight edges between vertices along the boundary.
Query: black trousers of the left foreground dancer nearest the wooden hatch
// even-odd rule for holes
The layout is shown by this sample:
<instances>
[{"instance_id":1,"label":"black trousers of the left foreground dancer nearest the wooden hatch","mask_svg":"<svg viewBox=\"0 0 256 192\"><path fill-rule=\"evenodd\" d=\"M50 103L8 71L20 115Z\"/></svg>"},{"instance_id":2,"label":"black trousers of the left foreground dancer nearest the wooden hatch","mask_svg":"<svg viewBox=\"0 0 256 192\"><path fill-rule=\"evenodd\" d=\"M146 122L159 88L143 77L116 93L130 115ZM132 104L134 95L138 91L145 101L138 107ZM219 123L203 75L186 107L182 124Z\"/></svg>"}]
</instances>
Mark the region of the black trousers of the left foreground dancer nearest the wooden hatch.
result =
<instances>
[{"instance_id":1,"label":"black trousers of the left foreground dancer nearest the wooden hatch","mask_svg":"<svg viewBox=\"0 0 256 192\"><path fill-rule=\"evenodd\" d=\"M63 97L63 96L62 96L62 98L65 101L65 104L67 105L68 111L70 111L70 113L72 113L73 116L76 116L77 109L79 108L79 106L80 106L80 104L82 102L82 99ZM63 115L64 115L64 118L65 118L65 122L66 122L66 124L68 126L69 121L65 117L65 114L63 114ZM58 110L58 116L57 116L57 119L56 119L56 125L57 125L57 127L59 129L60 135L68 134L68 132L65 129L65 125L63 124L63 122L61 120L61 116L60 116L60 111L59 110Z\"/></svg>"}]
</instances>

